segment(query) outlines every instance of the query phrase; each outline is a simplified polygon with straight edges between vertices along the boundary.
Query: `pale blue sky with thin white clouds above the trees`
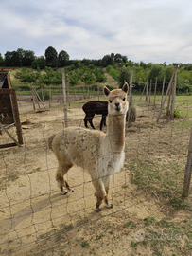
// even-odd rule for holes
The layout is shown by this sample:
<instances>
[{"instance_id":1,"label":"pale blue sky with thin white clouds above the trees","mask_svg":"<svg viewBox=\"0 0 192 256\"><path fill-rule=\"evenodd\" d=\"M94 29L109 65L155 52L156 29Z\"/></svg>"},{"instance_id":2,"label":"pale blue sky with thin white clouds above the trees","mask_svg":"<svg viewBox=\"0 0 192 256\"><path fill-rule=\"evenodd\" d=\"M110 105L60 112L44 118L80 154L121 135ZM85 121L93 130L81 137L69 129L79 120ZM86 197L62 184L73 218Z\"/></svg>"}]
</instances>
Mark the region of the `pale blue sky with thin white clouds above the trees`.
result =
<instances>
[{"instance_id":1,"label":"pale blue sky with thin white clouds above the trees","mask_svg":"<svg viewBox=\"0 0 192 256\"><path fill-rule=\"evenodd\" d=\"M192 63L191 0L0 0L0 53L70 60L120 53L139 63Z\"/></svg>"}]
</instances>

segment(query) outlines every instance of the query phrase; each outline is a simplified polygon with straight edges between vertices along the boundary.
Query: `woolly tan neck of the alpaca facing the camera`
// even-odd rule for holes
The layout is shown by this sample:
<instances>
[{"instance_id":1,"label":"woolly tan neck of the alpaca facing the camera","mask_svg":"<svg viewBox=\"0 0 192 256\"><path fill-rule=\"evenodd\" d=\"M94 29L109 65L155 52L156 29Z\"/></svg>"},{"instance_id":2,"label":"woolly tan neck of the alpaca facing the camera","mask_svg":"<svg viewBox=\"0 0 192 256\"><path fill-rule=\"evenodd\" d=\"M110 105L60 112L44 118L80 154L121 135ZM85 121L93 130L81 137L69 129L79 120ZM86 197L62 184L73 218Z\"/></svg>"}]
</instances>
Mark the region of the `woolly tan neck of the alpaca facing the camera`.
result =
<instances>
[{"instance_id":1,"label":"woolly tan neck of the alpaca facing the camera","mask_svg":"<svg viewBox=\"0 0 192 256\"><path fill-rule=\"evenodd\" d=\"M113 153L120 153L125 146L125 115L108 115L106 141Z\"/></svg>"}]
</instances>

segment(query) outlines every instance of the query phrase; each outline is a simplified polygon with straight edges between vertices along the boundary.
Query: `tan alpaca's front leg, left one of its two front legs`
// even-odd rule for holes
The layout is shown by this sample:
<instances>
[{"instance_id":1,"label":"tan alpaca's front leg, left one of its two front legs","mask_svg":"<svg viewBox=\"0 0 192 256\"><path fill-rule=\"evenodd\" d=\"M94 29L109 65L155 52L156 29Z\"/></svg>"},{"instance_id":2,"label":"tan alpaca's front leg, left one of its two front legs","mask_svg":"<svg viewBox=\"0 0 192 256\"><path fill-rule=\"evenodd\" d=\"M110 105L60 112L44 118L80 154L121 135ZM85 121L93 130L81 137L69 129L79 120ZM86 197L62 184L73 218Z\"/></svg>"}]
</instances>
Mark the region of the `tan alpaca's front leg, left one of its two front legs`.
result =
<instances>
[{"instance_id":1,"label":"tan alpaca's front leg, left one of its two front legs","mask_svg":"<svg viewBox=\"0 0 192 256\"><path fill-rule=\"evenodd\" d=\"M96 195L96 206L95 206L95 210L97 212L99 212L101 209L100 209L100 205L103 201L103 199L105 198L106 196L106 192L105 192L105 189L104 189L104 185L103 185L103 182L102 180L100 179L96 179L93 181L93 185L95 187L95 195Z\"/></svg>"}]
</instances>

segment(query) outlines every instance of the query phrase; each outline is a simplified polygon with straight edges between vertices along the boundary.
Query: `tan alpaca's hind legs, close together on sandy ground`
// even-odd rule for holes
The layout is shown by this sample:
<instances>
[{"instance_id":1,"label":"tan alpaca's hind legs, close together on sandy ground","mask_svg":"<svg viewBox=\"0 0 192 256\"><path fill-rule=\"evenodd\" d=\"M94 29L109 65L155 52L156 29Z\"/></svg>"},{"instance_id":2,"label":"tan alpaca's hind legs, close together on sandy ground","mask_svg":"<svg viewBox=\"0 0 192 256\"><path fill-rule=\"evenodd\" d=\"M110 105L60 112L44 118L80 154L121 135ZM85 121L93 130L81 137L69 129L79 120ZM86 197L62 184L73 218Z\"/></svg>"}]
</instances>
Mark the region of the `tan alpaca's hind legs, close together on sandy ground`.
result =
<instances>
[{"instance_id":1,"label":"tan alpaca's hind legs, close together on sandy ground","mask_svg":"<svg viewBox=\"0 0 192 256\"><path fill-rule=\"evenodd\" d=\"M58 186L61 190L61 194L66 194L67 192L65 192L63 190L63 187L66 188L68 190L68 192L74 192L68 182L64 179L64 174L66 174L68 172L68 170L71 168L71 165L64 165L64 166L59 166L57 173L56 173L56 180L58 182Z\"/></svg>"}]
</instances>

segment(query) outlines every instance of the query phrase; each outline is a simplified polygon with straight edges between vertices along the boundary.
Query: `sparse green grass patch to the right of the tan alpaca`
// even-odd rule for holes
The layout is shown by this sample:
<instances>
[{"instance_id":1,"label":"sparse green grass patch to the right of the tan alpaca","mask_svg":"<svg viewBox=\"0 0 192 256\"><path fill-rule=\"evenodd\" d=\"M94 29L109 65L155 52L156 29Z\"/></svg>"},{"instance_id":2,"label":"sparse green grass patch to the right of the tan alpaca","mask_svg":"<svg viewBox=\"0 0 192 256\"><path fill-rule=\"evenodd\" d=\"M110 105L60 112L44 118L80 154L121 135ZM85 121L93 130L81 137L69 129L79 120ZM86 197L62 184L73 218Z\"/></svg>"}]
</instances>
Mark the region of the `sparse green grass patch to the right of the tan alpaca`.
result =
<instances>
[{"instance_id":1,"label":"sparse green grass patch to the right of the tan alpaca","mask_svg":"<svg viewBox=\"0 0 192 256\"><path fill-rule=\"evenodd\" d=\"M157 96L157 115L160 102L161 97ZM133 97L134 106L143 108L144 113L148 109L154 110L152 103L153 99L149 104L145 98L139 101L139 97ZM156 119L153 123L151 119L151 125L154 126L148 131L150 137L145 133L135 135L135 138L139 137L136 142L137 151L132 152L128 144L125 166L130 171L131 182L136 184L138 189L161 195L166 199L166 204L171 205L174 210L192 210L187 199L181 199L188 136L192 123L192 96L176 96L175 106L176 113L180 114L179 118L160 127L156 127ZM162 115L166 115L165 110ZM143 124L142 120L140 123Z\"/></svg>"}]
</instances>

